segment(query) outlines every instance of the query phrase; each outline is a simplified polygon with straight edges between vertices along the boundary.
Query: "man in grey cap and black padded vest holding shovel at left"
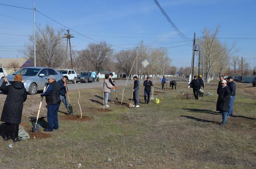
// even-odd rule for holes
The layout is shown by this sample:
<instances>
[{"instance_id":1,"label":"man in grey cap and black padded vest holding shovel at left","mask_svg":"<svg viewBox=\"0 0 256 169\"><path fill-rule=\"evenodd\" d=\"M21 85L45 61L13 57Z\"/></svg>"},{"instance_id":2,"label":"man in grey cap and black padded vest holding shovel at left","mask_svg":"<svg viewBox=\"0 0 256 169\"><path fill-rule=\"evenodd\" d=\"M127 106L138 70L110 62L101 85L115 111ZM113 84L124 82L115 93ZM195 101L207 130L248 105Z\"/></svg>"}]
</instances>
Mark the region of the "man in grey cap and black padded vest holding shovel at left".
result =
<instances>
[{"instance_id":1,"label":"man in grey cap and black padded vest holding shovel at left","mask_svg":"<svg viewBox=\"0 0 256 169\"><path fill-rule=\"evenodd\" d=\"M58 123L58 110L60 107L60 85L55 81L55 77L50 75L48 78L49 85L46 90L41 93L41 96L45 96L45 101L47 103L47 121L48 128L44 131L52 131L53 129L59 128Z\"/></svg>"}]
</instances>

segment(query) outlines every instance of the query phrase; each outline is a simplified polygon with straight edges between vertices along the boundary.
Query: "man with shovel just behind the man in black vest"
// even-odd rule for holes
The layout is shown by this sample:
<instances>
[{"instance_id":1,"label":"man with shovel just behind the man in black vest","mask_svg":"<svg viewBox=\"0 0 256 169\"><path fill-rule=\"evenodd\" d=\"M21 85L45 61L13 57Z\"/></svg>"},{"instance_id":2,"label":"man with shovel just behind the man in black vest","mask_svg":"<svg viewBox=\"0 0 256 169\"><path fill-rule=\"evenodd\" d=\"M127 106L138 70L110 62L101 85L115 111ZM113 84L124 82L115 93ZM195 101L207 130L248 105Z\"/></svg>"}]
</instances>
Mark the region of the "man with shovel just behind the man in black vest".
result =
<instances>
[{"instance_id":1,"label":"man with shovel just behind the man in black vest","mask_svg":"<svg viewBox=\"0 0 256 169\"><path fill-rule=\"evenodd\" d=\"M66 86L67 86L66 82L67 82L67 80L69 80L68 76L65 75L65 76L62 77L62 79L60 79L58 81L58 84L60 85L60 100L64 103L68 112L70 112L68 114L73 115L74 112L71 112L71 110L69 110L69 102L68 102L67 97L66 97L66 93L68 92L68 91L66 91ZM68 86L67 86L67 90L68 90Z\"/></svg>"}]
</instances>

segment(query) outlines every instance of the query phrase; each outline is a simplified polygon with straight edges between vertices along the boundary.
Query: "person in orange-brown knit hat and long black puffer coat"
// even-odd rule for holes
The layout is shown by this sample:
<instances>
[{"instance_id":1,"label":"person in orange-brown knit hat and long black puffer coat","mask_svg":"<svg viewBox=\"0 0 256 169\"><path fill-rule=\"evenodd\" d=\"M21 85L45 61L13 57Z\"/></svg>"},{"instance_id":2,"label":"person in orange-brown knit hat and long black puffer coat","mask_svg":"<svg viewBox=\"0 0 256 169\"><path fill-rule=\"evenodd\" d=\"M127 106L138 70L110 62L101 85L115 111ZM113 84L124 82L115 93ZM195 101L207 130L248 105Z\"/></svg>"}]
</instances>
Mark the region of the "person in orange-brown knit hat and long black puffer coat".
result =
<instances>
[{"instance_id":1,"label":"person in orange-brown knit hat and long black puffer coat","mask_svg":"<svg viewBox=\"0 0 256 169\"><path fill-rule=\"evenodd\" d=\"M14 143L19 141L18 132L23 102L27 99L27 91L21 81L22 76L15 75L12 85L6 86L7 78L4 77L4 82L0 87L0 90L7 94L1 116L1 121L5 122L4 141L7 141L11 137Z\"/></svg>"}]
</instances>

